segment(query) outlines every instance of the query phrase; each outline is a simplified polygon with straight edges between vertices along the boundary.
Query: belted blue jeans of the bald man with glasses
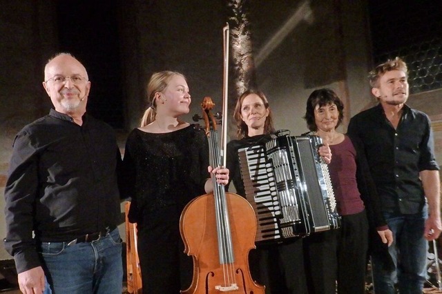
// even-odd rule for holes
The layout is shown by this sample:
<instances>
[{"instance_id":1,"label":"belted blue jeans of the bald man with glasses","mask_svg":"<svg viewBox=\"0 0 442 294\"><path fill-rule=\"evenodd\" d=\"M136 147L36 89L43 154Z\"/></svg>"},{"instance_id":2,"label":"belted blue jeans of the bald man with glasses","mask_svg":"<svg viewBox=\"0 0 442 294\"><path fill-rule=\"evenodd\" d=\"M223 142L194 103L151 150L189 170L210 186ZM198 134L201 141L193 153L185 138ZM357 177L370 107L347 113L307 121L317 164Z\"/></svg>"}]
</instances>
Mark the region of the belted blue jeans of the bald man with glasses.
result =
<instances>
[{"instance_id":1,"label":"belted blue jeans of the bald man with glasses","mask_svg":"<svg viewBox=\"0 0 442 294\"><path fill-rule=\"evenodd\" d=\"M42 242L45 294L121 294L122 239L118 228L96 241Z\"/></svg>"}]
</instances>

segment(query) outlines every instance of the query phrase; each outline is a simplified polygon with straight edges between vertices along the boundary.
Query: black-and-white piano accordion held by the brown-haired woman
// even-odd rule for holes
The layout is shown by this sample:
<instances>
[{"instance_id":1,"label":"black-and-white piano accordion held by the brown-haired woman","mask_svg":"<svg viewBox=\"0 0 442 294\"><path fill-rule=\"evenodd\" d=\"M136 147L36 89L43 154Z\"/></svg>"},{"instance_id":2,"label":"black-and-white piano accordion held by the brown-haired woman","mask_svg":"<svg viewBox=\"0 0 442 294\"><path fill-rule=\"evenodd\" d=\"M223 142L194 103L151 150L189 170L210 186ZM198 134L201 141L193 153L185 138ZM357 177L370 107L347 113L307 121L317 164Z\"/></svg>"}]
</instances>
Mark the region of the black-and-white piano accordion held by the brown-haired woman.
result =
<instances>
[{"instance_id":1,"label":"black-and-white piano accordion held by the brown-haired woman","mask_svg":"<svg viewBox=\"0 0 442 294\"><path fill-rule=\"evenodd\" d=\"M247 201L258 222L256 243L282 242L340 226L322 139L279 135L238 150Z\"/></svg>"}]
</instances>

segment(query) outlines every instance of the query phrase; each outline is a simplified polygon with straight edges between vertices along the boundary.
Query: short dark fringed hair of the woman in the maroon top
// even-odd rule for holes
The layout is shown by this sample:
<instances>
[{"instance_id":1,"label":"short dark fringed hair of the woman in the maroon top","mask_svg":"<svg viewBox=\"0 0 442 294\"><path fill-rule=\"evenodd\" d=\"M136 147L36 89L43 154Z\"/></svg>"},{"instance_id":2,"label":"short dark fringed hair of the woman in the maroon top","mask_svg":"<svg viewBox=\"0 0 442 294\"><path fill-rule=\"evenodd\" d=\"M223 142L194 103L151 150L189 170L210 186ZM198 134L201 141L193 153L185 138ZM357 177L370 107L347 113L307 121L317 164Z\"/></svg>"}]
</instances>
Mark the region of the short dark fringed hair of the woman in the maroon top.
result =
<instances>
[{"instance_id":1,"label":"short dark fringed hair of the woman in the maroon top","mask_svg":"<svg viewBox=\"0 0 442 294\"><path fill-rule=\"evenodd\" d=\"M314 90L311 92L309 99L307 99L307 107L305 109L304 119L307 121L307 128L311 130L311 132L316 132L318 130L318 126L316 126L315 122L315 108L316 106L325 106L329 104L335 104L338 108L339 117L338 124L336 124L336 128L340 125L340 123L344 119L344 104L336 95L336 93L328 88L323 88L319 90Z\"/></svg>"}]
</instances>

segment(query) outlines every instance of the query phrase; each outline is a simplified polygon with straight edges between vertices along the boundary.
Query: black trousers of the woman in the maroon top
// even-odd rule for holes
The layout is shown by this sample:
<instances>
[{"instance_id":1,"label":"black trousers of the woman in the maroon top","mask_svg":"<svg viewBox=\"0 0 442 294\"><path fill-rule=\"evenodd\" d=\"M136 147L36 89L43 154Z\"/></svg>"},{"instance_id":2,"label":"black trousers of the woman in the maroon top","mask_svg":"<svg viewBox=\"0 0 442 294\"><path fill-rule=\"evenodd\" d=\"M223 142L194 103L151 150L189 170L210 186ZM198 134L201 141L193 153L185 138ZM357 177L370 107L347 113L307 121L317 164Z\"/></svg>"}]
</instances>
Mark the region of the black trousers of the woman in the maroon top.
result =
<instances>
[{"instance_id":1,"label":"black trousers of the woman in the maroon top","mask_svg":"<svg viewBox=\"0 0 442 294\"><path fill-rule=\"evenodd\" d=\"M368 221L365 210L344 215L338 230L304 239L307 287L311 294L365 293Z\"/></svg>"}]
</instances>

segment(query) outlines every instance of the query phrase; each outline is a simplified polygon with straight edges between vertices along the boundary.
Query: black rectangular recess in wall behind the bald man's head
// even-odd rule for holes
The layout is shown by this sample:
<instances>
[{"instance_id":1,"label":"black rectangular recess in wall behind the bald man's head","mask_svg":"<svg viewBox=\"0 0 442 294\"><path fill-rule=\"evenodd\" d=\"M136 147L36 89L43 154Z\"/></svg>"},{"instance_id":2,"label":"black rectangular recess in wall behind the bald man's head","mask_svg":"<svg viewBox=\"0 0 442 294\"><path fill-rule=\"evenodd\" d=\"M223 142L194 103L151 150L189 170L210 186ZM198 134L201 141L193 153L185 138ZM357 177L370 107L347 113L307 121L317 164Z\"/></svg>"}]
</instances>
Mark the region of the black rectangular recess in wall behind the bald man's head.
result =
<instances>
[{"instance_id":1,"label":"black rectangular recess in wall behind the bald man's head","mask_svg":"<svg viewBox=\"0 0 442 294\"><path fill-rule=\"evenodd\" d=\"M119 56L117 0L56 1L59 50L84 62L94 85L88 112L123 128L122 61Z\"/></svg>"}]
</instances>

